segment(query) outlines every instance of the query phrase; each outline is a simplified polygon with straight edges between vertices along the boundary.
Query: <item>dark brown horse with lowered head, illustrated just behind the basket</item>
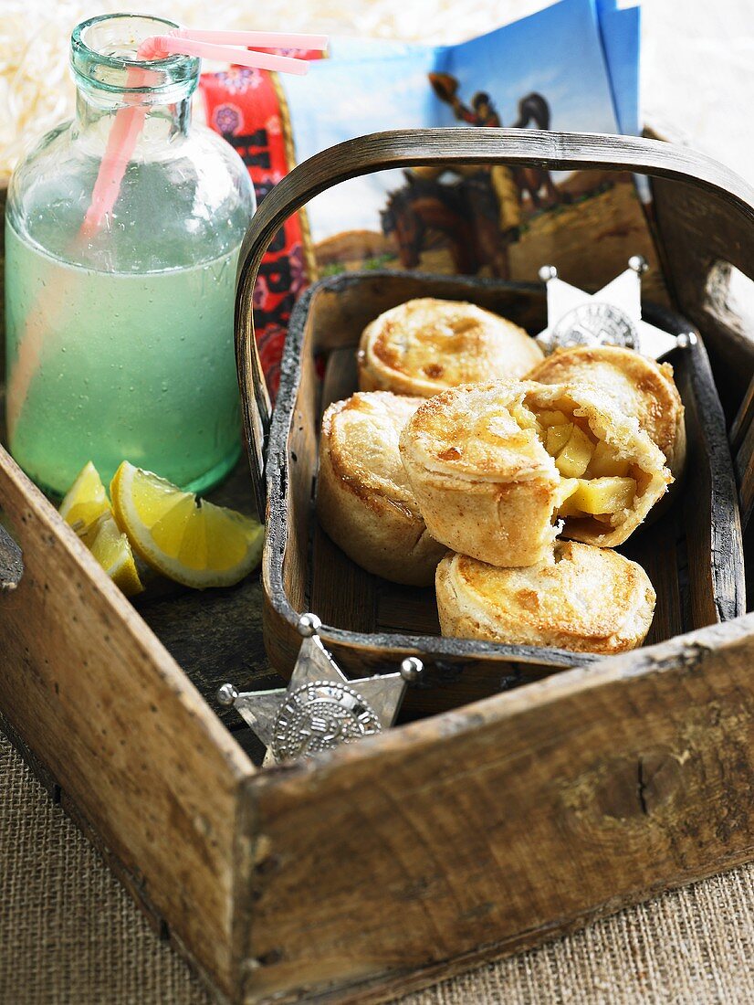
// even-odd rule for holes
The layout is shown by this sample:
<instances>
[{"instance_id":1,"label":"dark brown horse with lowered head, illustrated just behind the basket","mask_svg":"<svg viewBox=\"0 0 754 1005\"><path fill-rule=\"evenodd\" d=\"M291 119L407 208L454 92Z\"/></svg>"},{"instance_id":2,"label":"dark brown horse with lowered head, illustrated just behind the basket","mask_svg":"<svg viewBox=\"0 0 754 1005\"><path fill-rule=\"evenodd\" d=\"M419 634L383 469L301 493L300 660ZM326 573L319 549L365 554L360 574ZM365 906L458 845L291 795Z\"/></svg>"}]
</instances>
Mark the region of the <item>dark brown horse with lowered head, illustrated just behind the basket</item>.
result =
<instances>
[{"instance_id":1,"label":"dark brown horse with lowered head, illustrated just behind the basket","mask_svg":"<svg viewBox=\"0 0 754 1005\"><path fill-rule=\"evenodd\" d=\"M510 236L500 232L498 205L488 171L451 185L405 171L407 184L391 192L381 212L383 232L394 234L404 268L416 268L430 229L445 234L456 272L473 275L484 265L501 279L510 275Z\"/></svg>"}]
</instances>

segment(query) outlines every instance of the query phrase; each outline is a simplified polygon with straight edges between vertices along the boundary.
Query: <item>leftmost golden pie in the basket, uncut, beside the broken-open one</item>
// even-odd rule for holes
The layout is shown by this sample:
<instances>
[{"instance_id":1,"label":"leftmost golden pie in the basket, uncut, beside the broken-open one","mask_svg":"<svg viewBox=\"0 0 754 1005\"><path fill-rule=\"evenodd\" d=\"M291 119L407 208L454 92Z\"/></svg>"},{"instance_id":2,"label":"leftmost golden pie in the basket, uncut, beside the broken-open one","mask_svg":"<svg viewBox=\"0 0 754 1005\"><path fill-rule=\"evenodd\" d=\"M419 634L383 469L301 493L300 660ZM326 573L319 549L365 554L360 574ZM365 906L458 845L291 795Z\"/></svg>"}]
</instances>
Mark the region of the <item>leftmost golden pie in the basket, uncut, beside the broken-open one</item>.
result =
<instances>
[{"instance_id":1,"label":"leftmost golden pie in the basket, uncut, beside the broken-open one","mask_svg":"<svg viewBox=\"0 0 754 1005\"><path fill-rule=\"evenodd\" d=\"M335 544L368 572L430 586L445 548L427 532L398 449L421 400L375 391L327 408L317 516Z\"/></svg>"}]
</instances>

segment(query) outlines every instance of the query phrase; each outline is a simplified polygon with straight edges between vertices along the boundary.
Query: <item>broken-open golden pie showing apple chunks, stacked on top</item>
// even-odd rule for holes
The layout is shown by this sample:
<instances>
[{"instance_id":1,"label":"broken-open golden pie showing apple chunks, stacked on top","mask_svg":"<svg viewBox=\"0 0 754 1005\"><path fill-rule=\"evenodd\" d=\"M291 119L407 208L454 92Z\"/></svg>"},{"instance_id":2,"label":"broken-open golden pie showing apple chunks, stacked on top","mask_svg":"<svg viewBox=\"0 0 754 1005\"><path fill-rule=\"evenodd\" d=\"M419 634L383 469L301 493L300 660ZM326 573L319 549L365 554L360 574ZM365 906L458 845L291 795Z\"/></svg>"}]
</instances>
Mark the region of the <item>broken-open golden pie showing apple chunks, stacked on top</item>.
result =
<instances>
[{"instance_id":1,"label":"broken-open golden pie showing apple chunks, stacked on top","mask_svg":"<svg viewBox=\"0 0 754 1005\"><path fill-rule=\"evenodd\" d=\"M495 566L540 562L560 530L619 545L672 480L638 420L592 385L452 388L420 405L401 456L430 534Z\"/></svg>"}]
</instances>

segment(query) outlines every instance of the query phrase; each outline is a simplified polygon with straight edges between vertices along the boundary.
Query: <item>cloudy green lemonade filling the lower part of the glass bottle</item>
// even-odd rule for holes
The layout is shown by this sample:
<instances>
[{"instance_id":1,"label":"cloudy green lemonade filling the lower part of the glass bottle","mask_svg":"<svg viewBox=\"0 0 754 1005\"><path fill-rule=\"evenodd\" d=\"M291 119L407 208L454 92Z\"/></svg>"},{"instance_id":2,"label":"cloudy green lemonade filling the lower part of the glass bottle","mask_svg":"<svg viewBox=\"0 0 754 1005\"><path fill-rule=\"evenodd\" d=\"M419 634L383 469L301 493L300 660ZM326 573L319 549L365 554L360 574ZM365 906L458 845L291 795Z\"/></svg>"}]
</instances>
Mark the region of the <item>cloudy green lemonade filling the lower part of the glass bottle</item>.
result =
<instances>
[{"instance_id":1,"label":"cloudy green lemonade filling the lower part of the glass bottle","mask_svg":"<svg viewBox=\"0 0 754 1005\"><path fill-rule=\"evenodd\" d=\"M233 466L239 247L165 271L98 271L6 224L10 447L34 481L62 494L92 460L106 485L130 460L202 490Z\"/></svg>"}]
</instances>

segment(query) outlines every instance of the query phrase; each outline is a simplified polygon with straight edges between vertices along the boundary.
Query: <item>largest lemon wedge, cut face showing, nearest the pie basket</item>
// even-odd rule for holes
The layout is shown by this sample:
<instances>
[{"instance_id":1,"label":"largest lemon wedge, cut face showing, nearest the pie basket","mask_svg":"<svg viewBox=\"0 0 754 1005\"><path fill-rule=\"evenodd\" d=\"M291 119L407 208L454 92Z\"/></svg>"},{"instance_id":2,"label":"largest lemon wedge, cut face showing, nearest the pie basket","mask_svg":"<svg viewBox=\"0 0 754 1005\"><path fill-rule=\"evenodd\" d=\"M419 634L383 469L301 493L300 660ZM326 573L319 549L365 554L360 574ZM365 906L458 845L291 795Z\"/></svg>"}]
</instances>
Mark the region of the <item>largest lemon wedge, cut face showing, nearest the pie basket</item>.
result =
<instances>
[{"instance_id":1,"label":"largest lemon wedge, cut face showing, nearest the pie basket","mask_svg":"<svg viewBox=\"0 0 754 1005\"><path fill-rule=\"evenodd\" d=\"M262 554L264 528L127 460L110 482L118 526L140 558L178 583L233 586Z\"/></svg>"}]
</instances>

